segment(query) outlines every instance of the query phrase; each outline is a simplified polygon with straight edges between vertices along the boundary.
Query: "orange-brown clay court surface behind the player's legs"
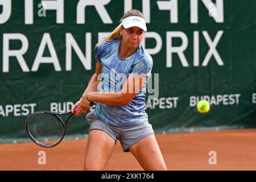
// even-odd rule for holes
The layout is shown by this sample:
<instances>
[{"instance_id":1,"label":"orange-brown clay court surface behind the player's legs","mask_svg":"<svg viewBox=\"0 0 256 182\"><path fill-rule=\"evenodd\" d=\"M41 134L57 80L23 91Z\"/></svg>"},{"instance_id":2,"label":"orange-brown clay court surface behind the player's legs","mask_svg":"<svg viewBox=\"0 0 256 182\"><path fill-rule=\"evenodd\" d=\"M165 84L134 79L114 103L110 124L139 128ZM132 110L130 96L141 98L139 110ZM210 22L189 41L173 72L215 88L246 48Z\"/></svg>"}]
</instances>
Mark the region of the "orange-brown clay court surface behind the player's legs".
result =
<instances>
[{"instance_id":1,"label":"orange-brown clay court surface behind the player's legs","mask_svg":"<svg viewBox=\"0 0 256 182\"><path fill-rule=\"evenodd\" d=\"M256 129L156 135L168 170L256 170ZM34 143L0 144L0 170L82 170L87 140L64 140L53 148ZM39 151L46 164L39 165ZM215 151L217 164L209 164ZM142 170L119 144L105 170Z\"/></svg>"}]
</instances>

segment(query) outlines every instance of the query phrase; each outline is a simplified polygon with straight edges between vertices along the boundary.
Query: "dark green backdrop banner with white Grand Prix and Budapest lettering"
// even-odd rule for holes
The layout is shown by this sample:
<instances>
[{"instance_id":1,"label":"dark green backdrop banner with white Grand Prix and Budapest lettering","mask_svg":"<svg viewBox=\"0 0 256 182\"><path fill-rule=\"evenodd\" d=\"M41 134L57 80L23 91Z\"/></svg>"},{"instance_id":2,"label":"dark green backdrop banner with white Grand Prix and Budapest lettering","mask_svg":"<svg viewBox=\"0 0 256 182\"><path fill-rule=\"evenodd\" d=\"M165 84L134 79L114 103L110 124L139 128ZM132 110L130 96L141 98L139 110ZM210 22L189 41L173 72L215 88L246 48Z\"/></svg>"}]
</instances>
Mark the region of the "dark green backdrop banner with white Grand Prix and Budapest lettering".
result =
<instances>
[{"instance_id":1,"label":"dark green backdrop banner with white Grand Prix and Budapest lettering","mask_svg":"<svg viewBox=\"0 0 256 182\"><path fill-rule=\"evenodd\" d=\"M26 138L37 110L64 112L94 73L95 44L141 10L154 65L146 111L156 133L256 127L256 1L3 0L0 139ZM206 99L207 114L196 110ZM85 115L67 133L88 132Z\"/></svg>"}]
</instances>

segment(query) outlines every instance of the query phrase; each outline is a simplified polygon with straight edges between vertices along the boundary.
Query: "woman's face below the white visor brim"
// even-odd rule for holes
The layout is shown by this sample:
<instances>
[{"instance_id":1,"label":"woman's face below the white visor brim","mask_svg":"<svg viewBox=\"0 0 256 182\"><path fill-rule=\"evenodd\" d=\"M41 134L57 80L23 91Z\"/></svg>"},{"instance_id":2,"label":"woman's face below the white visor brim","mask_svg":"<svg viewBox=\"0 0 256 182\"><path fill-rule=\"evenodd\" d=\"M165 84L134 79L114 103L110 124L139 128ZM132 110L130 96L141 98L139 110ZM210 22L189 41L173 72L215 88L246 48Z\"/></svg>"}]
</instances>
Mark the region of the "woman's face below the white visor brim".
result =
<instances>
[{"instance_id":1,"label":"woman's face below the white visor brim","mask_svg":"<svg viewBox=\"0 0 256 182\"><path fill-rule=\"evenodd\" d=\"M121 30L123 44L130 48L137 48L141 43L144 31L139 27L123 28Z\"/></svg>"}]
</instances>

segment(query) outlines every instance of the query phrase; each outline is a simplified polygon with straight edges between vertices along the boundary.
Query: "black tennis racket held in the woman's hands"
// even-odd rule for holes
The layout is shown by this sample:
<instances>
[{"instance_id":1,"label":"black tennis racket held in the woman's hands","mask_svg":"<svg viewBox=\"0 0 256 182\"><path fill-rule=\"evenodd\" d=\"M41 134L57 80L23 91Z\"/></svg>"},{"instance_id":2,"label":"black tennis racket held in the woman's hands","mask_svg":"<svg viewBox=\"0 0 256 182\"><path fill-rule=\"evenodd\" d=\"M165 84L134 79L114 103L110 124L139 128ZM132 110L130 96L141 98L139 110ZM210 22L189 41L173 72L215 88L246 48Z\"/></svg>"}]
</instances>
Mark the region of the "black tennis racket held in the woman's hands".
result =
<instances>
[{"instance_id":1,"label":"black tennis racket held in the woman's hands","mask_svg":"<svg viewBox=\"0 0 256 182\"><path fill-rule=\"evenodd\" d=\"M74 112L53 113L50 111L36 111L28 115L25 127L28 137L41 147L55 147L63 140L68 122L75 115L77 106ZM69 115L68 119L63 122L60 115Z\"/></svg>"}]
</instances>

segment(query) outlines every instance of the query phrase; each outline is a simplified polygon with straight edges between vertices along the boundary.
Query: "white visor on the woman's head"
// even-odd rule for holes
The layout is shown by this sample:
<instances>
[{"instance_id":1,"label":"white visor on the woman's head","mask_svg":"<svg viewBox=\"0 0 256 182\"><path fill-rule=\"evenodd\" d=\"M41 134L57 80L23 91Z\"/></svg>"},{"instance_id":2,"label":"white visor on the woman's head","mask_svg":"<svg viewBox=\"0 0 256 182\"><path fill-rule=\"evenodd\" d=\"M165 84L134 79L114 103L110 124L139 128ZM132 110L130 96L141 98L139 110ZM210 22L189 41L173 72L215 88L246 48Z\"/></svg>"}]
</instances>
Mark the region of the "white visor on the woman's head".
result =
<instances>
[{"instance_id":1,"label":"white visor on the woman's head","mask_svg":"<svg viewBox=\"0 0 256 182\"><path fill-rule=\"evenodd\" d=\"M147 31L146 21L144 20L144 18L141 18L139 16L129 16L123 19L122 25L124 28L139 27L145 32Z\"/></svg>"}]
</instances>

